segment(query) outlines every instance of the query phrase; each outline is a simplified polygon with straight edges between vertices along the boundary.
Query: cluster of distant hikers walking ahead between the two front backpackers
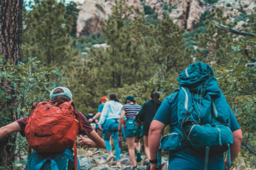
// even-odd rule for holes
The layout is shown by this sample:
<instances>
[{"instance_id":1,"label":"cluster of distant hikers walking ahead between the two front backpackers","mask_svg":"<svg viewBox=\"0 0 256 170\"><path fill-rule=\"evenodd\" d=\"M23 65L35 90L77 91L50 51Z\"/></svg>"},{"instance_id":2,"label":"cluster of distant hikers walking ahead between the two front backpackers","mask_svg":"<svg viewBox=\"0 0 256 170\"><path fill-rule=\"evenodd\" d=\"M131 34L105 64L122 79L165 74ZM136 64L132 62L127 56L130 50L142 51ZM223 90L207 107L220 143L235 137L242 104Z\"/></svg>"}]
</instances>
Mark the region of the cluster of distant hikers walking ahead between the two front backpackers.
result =
<instances>
[{"instance_id":1,"label":"cluster of distant hikers walking ahead between the two front backpackers","mask_svg":"<svg viewBox=\"0 0 256 170\"><path fill-rule=\"evenodd\" d=\"M111 148L111 137L113 137L116 160L113 167L120 168L121 137L124 137L123 141L127 142L133 169L136 169L136 163L141 162L142 160L141 137L144 138L145 155L147 157L145 164L149 163L148 132L150 123L162 103L159 99L159 93L153 92L150 95L150 101L145 102L143 107L141 107L141 105L136 103L133 96L127 96L125 105L122 105L118 100L118 96L115 93L111 93L109 99L106 96L101 98L101 105L99 105L96 115L90 111L89 114L85 116L92 127L95 127L94 129L98 134L103 133L103 139L107 150L107 162L111 162L114 158ZM143 124L135 125L135 118L137 122L139 121ZM136 150L136 153L134 150ZM97 148L95 154L98 152L99 149Z\"/></svg>"}]
</instances>

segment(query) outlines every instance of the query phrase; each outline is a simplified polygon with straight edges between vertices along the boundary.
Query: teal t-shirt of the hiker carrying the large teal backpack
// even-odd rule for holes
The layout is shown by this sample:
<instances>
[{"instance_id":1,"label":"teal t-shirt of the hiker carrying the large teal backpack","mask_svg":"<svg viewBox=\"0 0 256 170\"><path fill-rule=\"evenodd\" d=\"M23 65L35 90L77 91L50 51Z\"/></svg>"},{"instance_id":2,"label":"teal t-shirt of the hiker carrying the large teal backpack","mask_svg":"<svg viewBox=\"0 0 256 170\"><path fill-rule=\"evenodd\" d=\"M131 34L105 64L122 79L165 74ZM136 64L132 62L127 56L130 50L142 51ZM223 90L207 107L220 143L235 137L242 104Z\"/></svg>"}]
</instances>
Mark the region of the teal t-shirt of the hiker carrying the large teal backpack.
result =
<instances>
[{"instance_id":1,"label":"teal t-shirt of the hiker carrying the large teal backpack","mask_svg":"<svg viewBox=\"0 0 256 170\"><path fill-rule=\"evenodd\" d=\"M177 105L171 102L171 95L166 97L162 105L157 110L154 120L160 121L165 125L176 125L178 123L177 114L171 114L173 110L177 110ZM232 113L232 111L231 111ZM236 121L234 114L230 114L230 129L232 132L240 129L239 123ZM183 148L177 152L169 152L169 169L173 170L198 170L204 169L205 155L197 153L189 147ZM210 156L208 160L208 169L224 169L223 154Z\"/></svg>"}]
</instances>

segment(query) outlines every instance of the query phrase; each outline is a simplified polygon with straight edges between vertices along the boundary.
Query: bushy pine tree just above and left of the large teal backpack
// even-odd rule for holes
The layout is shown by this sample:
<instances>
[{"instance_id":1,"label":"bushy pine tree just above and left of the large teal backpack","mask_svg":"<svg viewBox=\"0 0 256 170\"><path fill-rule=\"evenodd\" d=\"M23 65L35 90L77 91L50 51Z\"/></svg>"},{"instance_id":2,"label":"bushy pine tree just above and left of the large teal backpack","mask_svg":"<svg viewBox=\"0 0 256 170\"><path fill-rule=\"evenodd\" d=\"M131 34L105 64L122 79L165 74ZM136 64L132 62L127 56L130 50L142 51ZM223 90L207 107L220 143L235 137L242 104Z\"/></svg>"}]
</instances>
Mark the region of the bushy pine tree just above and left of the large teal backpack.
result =
<instances>
[{"instance_id":1,"label":"bushy pine tree just above and left of the large teal backpack","mask_svg":"<svg viewBox=\"0 0 256 170\"><path fill-rule=\"evenodd\" d=\"M180 73L192 62L191 52L185 47L183 40L184 32L184 29L174 24L168 16L157 26L155 36L158 55L154 60L162 65L162 72Z\"/></svg>"}]
</instances>

